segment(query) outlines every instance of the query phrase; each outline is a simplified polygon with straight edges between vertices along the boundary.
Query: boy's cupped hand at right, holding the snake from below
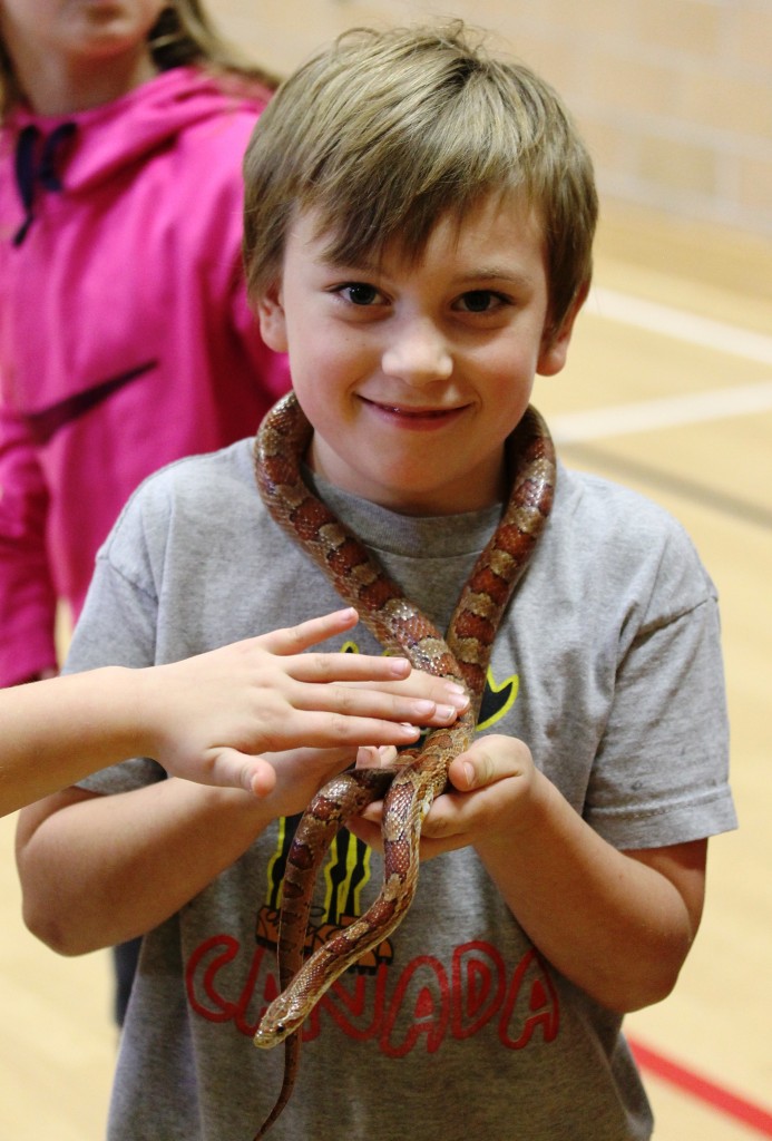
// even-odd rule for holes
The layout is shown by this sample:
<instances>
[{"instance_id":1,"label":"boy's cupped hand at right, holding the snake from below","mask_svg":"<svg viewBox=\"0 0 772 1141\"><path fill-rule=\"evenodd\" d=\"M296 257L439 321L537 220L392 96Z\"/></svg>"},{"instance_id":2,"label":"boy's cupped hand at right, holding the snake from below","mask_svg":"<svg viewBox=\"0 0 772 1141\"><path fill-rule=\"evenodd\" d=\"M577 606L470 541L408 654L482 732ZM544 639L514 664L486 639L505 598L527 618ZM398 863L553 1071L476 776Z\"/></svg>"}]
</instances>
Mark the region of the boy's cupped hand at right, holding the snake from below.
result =
<instances>
[{"instance_id":1,"label":"boy's cupped hand at right, holding the snake from below","mask_svg":"<svg viewBox=\"0 0 772 1141\"><path fill-rule=\"evenodd\" d=\"M530 750L515 737L480 737L456 756L448 771L452 788L438 796L421 830L421 859L507 837L525 820L536 772ZM347 827L380 850L383 803L371 804Z\"/></svg>"}]
</instances>

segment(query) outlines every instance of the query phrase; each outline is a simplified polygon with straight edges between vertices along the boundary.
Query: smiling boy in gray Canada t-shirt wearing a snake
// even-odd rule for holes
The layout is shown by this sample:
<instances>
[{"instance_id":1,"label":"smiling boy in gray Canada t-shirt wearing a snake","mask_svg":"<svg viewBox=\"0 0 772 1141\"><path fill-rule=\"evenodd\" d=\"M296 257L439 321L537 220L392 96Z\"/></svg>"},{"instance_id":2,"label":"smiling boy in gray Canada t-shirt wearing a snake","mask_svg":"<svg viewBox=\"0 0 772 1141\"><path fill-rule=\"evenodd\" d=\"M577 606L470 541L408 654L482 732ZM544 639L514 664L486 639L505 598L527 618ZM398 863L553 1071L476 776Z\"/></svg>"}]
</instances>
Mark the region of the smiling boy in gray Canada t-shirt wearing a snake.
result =
<instances>
[{"instance_id":1,"label":"smiling boy in gray Canada t-shirt wearing a snake","mask_svg":"<svg viewBox=\"0 0 772 1141\"><path fill-rule=\"evenodd\" d=\"M538 78L460 26L359 32L282 89L245 181L251 294L312 424L308 479L444 628L501 515L505 439L586 296L584 146ZM333 599L244 442L133 499L71 666L164 661ZM675 984L705 837L734 823L715 592L673 520L559 470L479 726L424 823L411 911L309 1020L271 1139L650 1136L621 1014ZM148 932L111 1139L247 1141L273 1106L281 1051L250 1038L277 989L286 817L331 764L275 767L255 803L170 791L138 760L22 822L42 938L72 954ZM311 944L374 898L376 848L344 832L320 880Z\"/></svg>"}]
</instances>

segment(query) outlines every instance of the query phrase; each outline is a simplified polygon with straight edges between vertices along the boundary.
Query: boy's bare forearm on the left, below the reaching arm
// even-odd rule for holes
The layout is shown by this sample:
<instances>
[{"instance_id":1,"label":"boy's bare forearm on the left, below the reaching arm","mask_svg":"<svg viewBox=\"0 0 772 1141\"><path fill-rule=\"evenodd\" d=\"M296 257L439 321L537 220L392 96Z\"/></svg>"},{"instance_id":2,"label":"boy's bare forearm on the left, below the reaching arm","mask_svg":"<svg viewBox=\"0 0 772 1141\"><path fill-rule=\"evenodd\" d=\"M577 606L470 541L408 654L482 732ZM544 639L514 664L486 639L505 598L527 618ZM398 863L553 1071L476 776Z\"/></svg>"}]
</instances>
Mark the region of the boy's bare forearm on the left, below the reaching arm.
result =
<instances>
[{"instance_id":1,"label":"boy's bare forearm on the left, below the reaching arm","mask_svg":"<svg viewBox=\"0 0 772 1141\"><path fill-rule=\"evenodd\" d=\"M19 818L25 922L65 955L123 942L211 883L269 818L249 793L178 778L113 796L67 790Z\"/></svg>"}]
</instances>

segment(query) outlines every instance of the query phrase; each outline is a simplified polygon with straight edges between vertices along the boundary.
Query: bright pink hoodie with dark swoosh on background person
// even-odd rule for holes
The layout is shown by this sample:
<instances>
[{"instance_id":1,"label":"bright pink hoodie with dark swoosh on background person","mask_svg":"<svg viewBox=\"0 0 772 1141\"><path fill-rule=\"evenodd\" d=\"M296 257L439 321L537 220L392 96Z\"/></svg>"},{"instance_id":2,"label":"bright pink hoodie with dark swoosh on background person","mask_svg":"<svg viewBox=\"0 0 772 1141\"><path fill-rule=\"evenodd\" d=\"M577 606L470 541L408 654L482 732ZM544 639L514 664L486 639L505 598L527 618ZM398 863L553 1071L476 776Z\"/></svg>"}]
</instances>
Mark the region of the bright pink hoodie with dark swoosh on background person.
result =
<instances>
[{"instance_id":1,"label":"bright pink hoodie with dark swoosh on background person","mask_svg":"<svg viewBox=\"0 0 772 1141\"><path fill-rule=\"evenodd\" d=\"M0 685L55 664L56 599L78 614L140 480L250 435L289 386L241 273L262 106L178 67L0 132Z\"/></svg>"}]
</instances>

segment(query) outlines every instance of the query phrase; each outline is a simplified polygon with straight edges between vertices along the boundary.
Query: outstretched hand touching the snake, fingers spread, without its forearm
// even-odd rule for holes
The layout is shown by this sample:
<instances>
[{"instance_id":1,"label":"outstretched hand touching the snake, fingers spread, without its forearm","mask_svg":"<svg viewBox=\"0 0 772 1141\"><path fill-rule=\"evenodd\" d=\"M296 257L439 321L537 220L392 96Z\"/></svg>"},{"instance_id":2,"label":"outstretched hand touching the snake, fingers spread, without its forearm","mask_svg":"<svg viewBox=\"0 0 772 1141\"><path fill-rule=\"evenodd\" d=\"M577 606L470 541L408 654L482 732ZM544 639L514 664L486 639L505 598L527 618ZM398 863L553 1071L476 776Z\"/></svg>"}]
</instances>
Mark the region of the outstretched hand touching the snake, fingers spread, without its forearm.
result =
<instances>
[{"instance_id":1,"label":"outstretched hand touching the snake, fingers spread, without its forearm","mask_svg":"<svg viewBox=\"0 0 772 1141\"><path fill-rule=\"evenodd\" d=\"M146 755L174 776L267 795L275 762L258 754L334 748L342 768L358 745L413 744L418 726L452 723L468 704L460 687L412 672L405 658L303 653L357 617L340 610L136 671L151 733ZM323 768L331 763L332 755Z\"/></svg>"}]
</instances>

